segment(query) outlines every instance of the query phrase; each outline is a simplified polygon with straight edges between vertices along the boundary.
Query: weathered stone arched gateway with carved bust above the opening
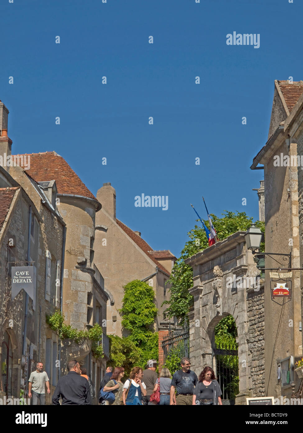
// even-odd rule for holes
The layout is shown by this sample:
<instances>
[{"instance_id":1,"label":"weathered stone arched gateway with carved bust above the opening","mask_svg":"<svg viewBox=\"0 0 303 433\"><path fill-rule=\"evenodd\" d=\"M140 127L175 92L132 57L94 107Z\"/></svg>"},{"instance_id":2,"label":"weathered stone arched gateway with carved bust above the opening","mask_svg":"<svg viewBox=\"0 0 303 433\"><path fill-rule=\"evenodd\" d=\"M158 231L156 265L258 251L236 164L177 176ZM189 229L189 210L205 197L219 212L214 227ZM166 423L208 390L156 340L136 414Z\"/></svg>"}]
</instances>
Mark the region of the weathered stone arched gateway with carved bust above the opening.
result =
<instances>
[{"instance_id":1,"label":"weathered stone arched gateway with carved bust above the opening","mask_svg":"<svg viewBox=\"0 0 303 433\"><path fill-rule=\"evenodd\" d=\"M191 265L194 308L189 313L191 368L199 374L206 366L216 372L214 328L232 315L237 326L239 394L264 396L264 284L247 250L246 232L236 232L199 252L185 263Z\"/></svg>"}]
</instances>

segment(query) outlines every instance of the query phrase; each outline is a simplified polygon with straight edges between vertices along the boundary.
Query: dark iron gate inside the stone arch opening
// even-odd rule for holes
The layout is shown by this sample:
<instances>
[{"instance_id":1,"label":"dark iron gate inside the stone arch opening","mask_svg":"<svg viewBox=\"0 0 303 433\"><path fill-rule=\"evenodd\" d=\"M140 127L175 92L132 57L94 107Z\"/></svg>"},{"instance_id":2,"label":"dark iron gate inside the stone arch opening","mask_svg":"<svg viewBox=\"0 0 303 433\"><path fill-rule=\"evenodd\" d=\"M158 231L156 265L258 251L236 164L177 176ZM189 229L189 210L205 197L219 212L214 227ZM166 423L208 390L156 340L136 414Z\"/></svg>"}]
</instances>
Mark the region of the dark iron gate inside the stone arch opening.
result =
<instances>
[{"instance_id":1,"label":"dark iron gate inside the stone arch opening","mask_svg":"<svg viewBox=\"0 0 303 433\"><path fill-rule=\"evenodd\" d=\"M238 349L228 344L222 344L220 349L213 349L216 370L223 404L235 404L235 397L239 394L239 358ZM214 359L213 357L213 359Z\"/></svg>"}]
</instances>

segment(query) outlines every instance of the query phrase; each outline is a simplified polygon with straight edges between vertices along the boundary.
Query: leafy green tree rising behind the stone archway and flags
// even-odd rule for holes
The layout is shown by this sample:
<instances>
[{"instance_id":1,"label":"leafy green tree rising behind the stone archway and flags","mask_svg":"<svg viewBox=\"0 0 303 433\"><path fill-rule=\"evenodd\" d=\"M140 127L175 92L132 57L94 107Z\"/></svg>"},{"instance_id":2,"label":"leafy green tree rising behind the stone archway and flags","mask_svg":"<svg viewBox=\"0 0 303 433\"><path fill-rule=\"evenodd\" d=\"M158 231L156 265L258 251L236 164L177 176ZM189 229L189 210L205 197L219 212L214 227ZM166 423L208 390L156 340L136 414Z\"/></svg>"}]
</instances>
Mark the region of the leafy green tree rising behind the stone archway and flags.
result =
<instances>
[{"instance_id":1,"label":"leafy green tree rising behind the stone archway and flags","mask_svg":"<svg viewBox=\"0 0 303 433\"><path fill-rule=\"evenodd\" d=\"M239 230L246 231L253 218L246 215L245 212L230 212L223 211L223 218L219 218L211 214L211 219L217 232L217 238L223 240L228 236L236 233ZM197 220L199 221L199 220ZM205 225L209 228L208 220L204 220ZM265 224L261 221L256 221L255 225L259 227L262 232L265 230ZM166 308L168 317L176 316L183 323L185 317L193 305L193 297L188 293L188 289L193 284L192 268L190 265L185 264L185 259L197 252L203 251L208 248L208 239L203 227L195 225L194 229L188 233L189 240L185 243L185 247L181 251L181 256L175 262L172 268L172 274L168 282L172 285L170 290L169 301L164 301L162 305L169 305Z\"/></svg>"}]
</instances>

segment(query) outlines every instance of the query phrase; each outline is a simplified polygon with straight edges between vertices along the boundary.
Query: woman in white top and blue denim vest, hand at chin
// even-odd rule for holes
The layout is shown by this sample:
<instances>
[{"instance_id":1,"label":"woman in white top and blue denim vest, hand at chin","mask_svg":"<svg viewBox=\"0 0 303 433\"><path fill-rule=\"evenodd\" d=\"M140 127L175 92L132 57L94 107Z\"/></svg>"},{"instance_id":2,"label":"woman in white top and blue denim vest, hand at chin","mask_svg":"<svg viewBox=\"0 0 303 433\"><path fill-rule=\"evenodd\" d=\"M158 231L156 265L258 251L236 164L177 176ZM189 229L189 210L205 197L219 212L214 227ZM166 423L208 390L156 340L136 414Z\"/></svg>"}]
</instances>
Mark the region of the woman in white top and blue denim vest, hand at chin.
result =
<instances>
[{"instance_id":1,"label":"woman in white top and blue denim vest, hand at chin","mask_svg":"<svg viewBox=\"0 0 303 433\"><path fill-rule=\"evenodd\" d=\"M146 395L146 386L141 381L143 378L143 369L141 367L134 367L131 370L129 379L123 385L123 404L129 405L143 405L142 396Z\"/></svg>"}]
</instances>

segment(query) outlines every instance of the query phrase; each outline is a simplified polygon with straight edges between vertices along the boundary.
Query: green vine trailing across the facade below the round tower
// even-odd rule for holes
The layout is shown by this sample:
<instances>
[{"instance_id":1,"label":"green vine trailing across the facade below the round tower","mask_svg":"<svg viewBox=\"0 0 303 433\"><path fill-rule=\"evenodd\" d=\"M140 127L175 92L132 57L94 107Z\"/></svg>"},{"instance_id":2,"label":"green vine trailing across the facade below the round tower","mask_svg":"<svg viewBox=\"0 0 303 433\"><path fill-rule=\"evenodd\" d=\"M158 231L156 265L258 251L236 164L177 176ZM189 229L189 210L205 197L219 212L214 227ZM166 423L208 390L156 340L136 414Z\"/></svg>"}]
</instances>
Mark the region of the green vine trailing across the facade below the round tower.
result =
<instances>
[{"instance_id":1,"label":"green vine trailing across the facade below the round tower","mask_svg":"<svg viewBox=\"0 0 303 433\"><path fill-rule=\"evenodd\" d=\"M99 323L95 323L92 328L86 331L78 331L72 328L70 325L64 323L64 317L60 310L56 310L51 316L46 316L46 323L50 328L57 333L59 339L65 338L73 340L77 344L81 344L84 339L92 341L92 355L98 359L103 356L102 344L99 345L99 341L102 340L102 326Z\"/></svg>"}]
</instances>

